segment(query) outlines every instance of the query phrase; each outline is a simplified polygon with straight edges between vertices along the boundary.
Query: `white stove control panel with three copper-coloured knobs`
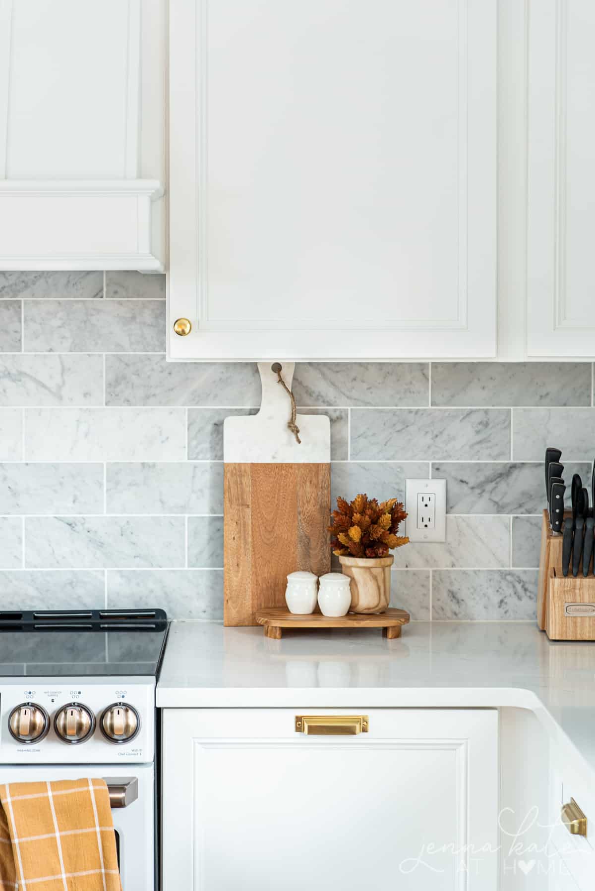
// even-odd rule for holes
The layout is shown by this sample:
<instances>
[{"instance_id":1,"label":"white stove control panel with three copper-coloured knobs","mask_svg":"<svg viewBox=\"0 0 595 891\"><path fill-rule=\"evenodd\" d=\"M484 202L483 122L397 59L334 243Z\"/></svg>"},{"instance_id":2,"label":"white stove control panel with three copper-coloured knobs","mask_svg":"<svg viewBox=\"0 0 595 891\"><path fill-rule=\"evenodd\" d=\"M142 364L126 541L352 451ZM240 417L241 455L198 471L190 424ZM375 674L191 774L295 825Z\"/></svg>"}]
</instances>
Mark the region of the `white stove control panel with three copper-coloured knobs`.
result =
<instances>
[{"instance_id":1,"label":"white stove control panel with three copper-coloured knobs","mask_svg":"<svg viewBox=\"0 0 595 891\"><path fill-rule=\"evenodd\" d=\"M3 678L0 764L153 761L153 678Z\"/></svg>"}]
</instances>

